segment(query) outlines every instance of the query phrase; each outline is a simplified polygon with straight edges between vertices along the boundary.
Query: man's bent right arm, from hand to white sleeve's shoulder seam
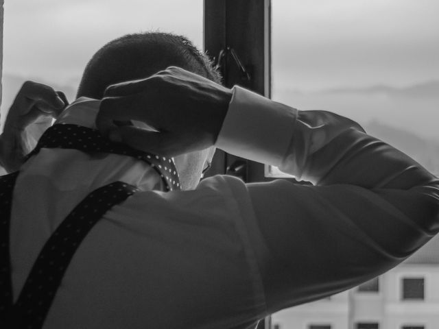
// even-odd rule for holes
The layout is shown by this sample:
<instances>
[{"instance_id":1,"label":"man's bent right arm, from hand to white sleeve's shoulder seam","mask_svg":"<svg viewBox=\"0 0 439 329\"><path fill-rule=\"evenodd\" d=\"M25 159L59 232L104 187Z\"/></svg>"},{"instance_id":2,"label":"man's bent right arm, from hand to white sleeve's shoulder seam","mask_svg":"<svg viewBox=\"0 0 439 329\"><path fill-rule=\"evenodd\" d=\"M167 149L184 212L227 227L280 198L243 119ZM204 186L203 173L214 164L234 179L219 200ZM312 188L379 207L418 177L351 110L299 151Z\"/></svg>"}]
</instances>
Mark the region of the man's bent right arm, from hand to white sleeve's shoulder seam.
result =
<instances>
[{"instance_id":1,"label":"man's bent right arm, from hand to white sleeve's shoulder seam","mask_svg":"<svg viewBox=\"0 0 439 329\"><path fill-rule=\"evenodd\" d=\"M112 124L131 119L156 132ZM224 178L242 217L261 228L262 239L252 242L267 247L257 262L268 313L377 276L439 230L438 179L331 112L298 111L239 87L232 96L173 67L110 87L96 125L116 141L156 154L215 145L313 183Z\"/></svg>"}]
</instances>

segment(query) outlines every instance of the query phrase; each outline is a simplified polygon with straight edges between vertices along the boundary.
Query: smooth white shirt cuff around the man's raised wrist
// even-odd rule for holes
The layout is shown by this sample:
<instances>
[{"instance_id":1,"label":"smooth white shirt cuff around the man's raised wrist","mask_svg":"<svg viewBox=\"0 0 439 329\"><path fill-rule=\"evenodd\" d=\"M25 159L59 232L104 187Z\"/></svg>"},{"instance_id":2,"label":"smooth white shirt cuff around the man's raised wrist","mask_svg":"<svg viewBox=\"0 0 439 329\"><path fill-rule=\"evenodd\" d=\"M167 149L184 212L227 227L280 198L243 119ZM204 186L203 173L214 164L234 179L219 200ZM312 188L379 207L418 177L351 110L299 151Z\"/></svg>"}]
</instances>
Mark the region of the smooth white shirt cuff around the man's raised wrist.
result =
<instances>
[{"instance_id":1,"label":"smooth white shirt cuff around the man's raised wrist","mask_svg":"<svg viewBox=\"0 0 439 329\"><path fill-rule=\"evenodd\" d=\"M239 86L215 146L248 160L278 166L287 153L298 110Z\"/></svg>"}]
</instances>

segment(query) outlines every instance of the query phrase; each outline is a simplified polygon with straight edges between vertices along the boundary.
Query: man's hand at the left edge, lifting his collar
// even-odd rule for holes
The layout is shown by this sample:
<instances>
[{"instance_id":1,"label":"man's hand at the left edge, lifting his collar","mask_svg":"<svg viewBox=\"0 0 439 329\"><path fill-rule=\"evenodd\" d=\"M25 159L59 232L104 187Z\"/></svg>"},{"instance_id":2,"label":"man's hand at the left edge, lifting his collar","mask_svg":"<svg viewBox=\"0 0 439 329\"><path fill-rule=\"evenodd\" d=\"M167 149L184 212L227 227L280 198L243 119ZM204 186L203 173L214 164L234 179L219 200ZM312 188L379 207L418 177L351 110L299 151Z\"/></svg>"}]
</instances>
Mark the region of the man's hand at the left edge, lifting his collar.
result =
<instances>
[{"instance_id":1,"label":"man's hand at the left edge, lifting his collar","mask_svg":"<svg viewBox=\"0 0 439 329\"><path fill-rule=\"evenodd\" d=\"M21 86L0 136L0 164L6 171L19 169L33 147L27 141L25 128L34 123L38 125L38 131L43 132L68 104L62 92L45 84L27 81Z\"/></svg>"}]
</instances>

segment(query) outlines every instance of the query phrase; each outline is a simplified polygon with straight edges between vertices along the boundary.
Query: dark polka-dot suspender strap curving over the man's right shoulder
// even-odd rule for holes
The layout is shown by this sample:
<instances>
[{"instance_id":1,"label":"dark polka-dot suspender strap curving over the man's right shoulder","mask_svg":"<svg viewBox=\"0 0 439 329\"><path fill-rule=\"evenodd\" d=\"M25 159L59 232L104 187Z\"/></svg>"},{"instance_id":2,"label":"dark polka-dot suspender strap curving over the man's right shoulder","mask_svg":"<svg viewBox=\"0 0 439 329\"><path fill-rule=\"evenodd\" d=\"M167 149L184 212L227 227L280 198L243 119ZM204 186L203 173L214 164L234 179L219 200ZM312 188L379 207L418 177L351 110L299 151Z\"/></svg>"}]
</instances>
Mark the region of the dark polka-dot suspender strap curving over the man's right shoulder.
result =
<instances>
[{"instance_id":1,"label":"dark polka-dot suspender strap curving over the man's right shoulder","mask_svg":"<svg viewBox=\"0 0 439 329\"><path fill-rule=\"evenodd\" d=\"M138 188L114 182L85 197L62 221L41 250L10 313L10 328L41 328L56 291L80 243L112 206Z\"/></svg>"}]
</instances>

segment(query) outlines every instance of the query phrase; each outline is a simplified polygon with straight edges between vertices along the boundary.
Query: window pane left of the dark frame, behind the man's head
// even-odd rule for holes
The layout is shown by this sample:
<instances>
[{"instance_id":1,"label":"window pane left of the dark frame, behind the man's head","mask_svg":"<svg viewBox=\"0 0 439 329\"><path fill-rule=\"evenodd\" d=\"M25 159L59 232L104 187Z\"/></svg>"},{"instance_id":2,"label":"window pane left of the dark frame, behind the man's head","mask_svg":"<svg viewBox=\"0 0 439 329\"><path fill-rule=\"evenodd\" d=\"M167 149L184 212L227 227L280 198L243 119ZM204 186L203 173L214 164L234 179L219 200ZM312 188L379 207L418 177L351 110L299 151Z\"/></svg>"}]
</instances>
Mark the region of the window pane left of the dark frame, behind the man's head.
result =
<instances>
[{"instance_id":1,"label":"window pane left of the dark frame, behind the man's head","mask_svg":"<svg viewBox=\"0 0 439 329\"><path fill-rule=\"evenodd\" d=\"M1 124L25 80L54 86L73 101L93 53L124 34L161 31L202 47L203 0L5 1Z\"/></svg>"}]
</instances>

